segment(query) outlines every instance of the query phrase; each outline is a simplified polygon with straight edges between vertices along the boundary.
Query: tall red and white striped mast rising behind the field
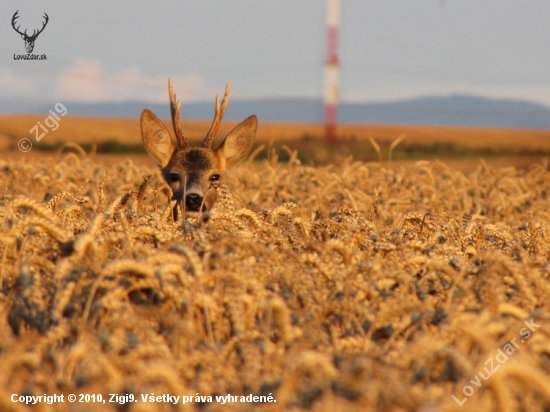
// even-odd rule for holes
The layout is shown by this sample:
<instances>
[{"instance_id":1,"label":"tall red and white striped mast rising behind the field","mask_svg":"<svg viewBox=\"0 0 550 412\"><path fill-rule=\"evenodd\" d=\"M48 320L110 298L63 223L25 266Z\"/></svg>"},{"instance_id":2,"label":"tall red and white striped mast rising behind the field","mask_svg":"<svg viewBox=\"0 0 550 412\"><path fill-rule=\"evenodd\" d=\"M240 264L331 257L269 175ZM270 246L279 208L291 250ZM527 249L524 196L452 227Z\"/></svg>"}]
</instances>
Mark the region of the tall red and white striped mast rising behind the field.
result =
<instances>
[{"instance_id":1,"label":"tall red and white striped mast rising behind the field","mask_svg":"<svg viewBox=\"0 0 550 412\"><path fill-rule=\"evenodd\" d=\"M336 141L338 105L338 33L340 29L340 0L327 0L327 60L325 66L325 138Z\"/></svg>"}]
</instances>

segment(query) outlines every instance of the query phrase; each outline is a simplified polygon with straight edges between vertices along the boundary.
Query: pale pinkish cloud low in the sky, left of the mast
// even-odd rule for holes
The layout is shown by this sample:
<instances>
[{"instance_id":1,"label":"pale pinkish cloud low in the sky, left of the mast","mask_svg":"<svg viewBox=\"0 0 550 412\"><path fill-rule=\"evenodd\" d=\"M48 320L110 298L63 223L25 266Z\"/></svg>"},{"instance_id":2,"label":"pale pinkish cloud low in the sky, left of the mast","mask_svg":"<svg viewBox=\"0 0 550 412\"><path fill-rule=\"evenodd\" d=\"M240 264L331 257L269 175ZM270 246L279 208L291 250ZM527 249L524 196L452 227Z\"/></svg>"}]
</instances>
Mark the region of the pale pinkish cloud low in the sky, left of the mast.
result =
<instances>
[{"instance_id":1,"label":"pale pinkish cloud low in the sky, left of the mast","mask_svg":"<svg viewBox=\"0 0 550 412\"><path fill-rule=\"evenodd\" d=\"M201 76L172 76L177 97L182 101L210 99L215 94ZM61 73L57 99L78 102L168 100L168 75L149 76L136 68L109 71L98 61L77 60Z\"/></svg>"}]
</instances>

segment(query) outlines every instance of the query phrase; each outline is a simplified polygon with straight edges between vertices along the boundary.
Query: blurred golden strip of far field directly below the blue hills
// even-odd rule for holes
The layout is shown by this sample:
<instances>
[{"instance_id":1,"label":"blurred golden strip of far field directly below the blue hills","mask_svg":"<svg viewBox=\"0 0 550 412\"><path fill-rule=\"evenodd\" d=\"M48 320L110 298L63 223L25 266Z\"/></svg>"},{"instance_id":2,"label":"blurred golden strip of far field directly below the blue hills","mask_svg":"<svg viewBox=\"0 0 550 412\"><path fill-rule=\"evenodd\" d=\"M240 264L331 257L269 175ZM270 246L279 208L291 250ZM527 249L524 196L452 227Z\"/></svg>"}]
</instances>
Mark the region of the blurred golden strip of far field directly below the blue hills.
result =
<instances>
[{"instance_id":1,"label":"blurred golden strip of far field directly below the blue hills","mask_svg":"<svg viewBox=\"0 0 550 412\"><path fill-rule=\"evenodd\" d=\"M17 151L17 141L30 138L35 142L35 134L29 130L37 123L44 122L44 115L0 115L0 149ZM205 131L211 120L182 119L182 129L190 141L202 142ZM224 121L220 125L220 135L227 135L239 122ZM170 119L165 119L171 129ZM458 126L421 126L421 125L374 125L374 124L340 124L338 134L343 139L364 141L368 145L369 137L381 145L389 145L398 136L407 136L403 144L420 146L438 142L457 147L514 150L550 150L550 131L500 129L489 127ZM275 123L260 119L257 141L270 141L300 144L304 137L323 142L324 126L307 123ZM139 122L133 119L78 117L67 115L59 123L59 128L49 131L40 143L74 142L80 145L100 143L105 140L116 140L121 143L141 145Z\"/></svg>"}]
</instances>

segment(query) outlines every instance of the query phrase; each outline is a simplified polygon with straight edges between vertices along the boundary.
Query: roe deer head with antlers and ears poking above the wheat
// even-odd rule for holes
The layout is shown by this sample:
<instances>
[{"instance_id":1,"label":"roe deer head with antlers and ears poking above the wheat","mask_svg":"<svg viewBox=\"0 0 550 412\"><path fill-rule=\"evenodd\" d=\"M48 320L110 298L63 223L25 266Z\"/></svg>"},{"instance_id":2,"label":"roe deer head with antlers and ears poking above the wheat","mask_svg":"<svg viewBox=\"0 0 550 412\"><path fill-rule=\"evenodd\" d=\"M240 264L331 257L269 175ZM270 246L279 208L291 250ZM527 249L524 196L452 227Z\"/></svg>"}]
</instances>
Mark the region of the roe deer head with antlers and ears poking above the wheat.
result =
<instances>
[{"instance_id":1,"label":"roe deer head with antlers and ears poking above the wheat","mask_svg":"<svg viewBox=\"0 0 550 412\"><path fill-rule=\"evenodd\" d=\"M229 91L230 84L227 83L221 109L220 98L216 96L214 120L202 147L189 147L181 130L181 102L176 102L171 79L168 79L168 94L178 146L174 145L170 132L153 112L145 109L141 114L141 137L145 149L160 167L164 180L172 188L172 200L178 201L184 216L185 210L203 211L212 208L216 201L216 191L209 191L211 183L221 180L227 169L243 160L254 143L258 120L252 115L235 127L216 149L212 149L227 108Z\"/></svg>"}]
</instances>

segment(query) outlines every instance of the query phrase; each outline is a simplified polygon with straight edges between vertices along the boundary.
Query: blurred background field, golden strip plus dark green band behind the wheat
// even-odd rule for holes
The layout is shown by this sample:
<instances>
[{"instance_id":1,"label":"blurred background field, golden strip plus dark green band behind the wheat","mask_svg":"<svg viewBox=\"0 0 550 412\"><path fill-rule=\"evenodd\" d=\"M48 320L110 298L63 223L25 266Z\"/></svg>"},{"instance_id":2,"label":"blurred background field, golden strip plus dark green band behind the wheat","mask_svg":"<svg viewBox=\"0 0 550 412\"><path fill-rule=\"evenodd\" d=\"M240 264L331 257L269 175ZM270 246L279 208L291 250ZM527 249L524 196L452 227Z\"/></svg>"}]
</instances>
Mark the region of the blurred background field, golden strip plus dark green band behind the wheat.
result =
<instances>
[{"instance_id":1,"label":"blurred background field, golden strip plus dark green band behind the wheat","mask_svg":"<svg viewBox=\"0 0 550 412\"><path fill-rule=\"evenodd\" d=\"M42 156L61 149L67 142L80 145L86 152L98 155L131 155L138 161L148 162L139 128L139 119L113 119L95 117L63 117L55 131L49 131L40 142L29 130L43 116L0 116L0 147L4 157ZM165 121L171 129L168 120ZM198 144L210 125L209 121L182 120L182 128ZM226 121L220 127L220 137L226 135L237 122ZM419 125L355 125L338 127L340 139L332 145L324 140L321 124L259 123L256 147L264 149L256 154L260 160L275 150L279 160L289 158L289 150L298 150L298 158L307 164L339 164L353 156L367 162L389 160L392 142L404 136L392 151L392 160L414 162L420 159L439 159L453 166L470 170L480 158L490 164L525 167L541 162L550 154L550 131L497 129L487 127L419 126ZM33 148L21 153L17 143L24 138L32 141ZM371 139L379 146L380 153ZM94 148L95 146L95 148ZM108 156L105 157L108 159Z\"/></svg>"}]
</instances>

